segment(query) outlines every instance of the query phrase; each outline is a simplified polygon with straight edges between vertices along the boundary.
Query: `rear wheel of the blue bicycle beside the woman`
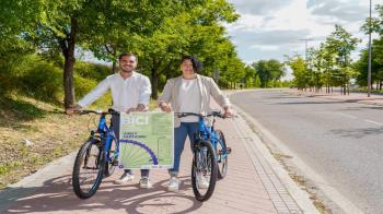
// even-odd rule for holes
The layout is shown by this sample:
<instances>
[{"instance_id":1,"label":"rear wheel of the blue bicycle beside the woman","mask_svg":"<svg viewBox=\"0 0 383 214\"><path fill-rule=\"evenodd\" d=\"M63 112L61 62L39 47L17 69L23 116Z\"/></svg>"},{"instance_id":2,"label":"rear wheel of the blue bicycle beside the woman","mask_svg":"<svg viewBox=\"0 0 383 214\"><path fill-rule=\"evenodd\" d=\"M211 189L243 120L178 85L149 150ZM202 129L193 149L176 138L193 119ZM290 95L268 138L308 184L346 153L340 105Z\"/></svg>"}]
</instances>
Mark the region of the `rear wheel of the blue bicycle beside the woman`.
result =
<instances>
[{"instance_id":1,"label":"rear wheel of the blue bicycle beside the woman","mask_svg":"<svg viewBox=\"0 0 383 214\"><path fill-rule=\"evenodd\" d=\"M216 145L218 179L223 179L228 174L228 146L223 132L221 130L217 130L216 132L222 141L222 144L220 142L217 142ZM222 157L222 154L224 157Z\"/></svg>"}]
</instances>

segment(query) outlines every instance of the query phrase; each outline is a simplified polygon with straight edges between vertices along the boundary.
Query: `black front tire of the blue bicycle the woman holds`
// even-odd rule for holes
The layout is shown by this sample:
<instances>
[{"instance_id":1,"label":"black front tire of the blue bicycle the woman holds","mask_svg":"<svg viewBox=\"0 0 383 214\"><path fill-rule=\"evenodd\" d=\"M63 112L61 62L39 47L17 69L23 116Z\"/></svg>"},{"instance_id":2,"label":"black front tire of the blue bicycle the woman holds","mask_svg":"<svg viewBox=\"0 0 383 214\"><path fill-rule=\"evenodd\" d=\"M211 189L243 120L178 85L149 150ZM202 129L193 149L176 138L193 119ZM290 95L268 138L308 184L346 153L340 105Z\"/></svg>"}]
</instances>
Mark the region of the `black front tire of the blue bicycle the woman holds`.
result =
<instances>
[{"instance_id":1,"label":"black front tire of the blue bicycle the woman holds","mask_svg":"<svg viewBox=\"0 0 383 214\"><path fill-rule=\"evenodd\" d=\"M195 145L194 147L194 157L192 164L192 186L194 195L197 199L197 201L204 202L210 199L216 188L218 173L217 162L214 156L214 150L212 148L212 145L209 141L199 141L195 143L197 143L197 145ZM201 157L205 156L205 154L202 154L202 148L206 148L207 163L204 163L201 160ZM199 170L201 169L210 171L209 187L207 188L205 193L200 188L198 188L199 175L197 174L200 174Z\"/></svg>"}]
</instances>

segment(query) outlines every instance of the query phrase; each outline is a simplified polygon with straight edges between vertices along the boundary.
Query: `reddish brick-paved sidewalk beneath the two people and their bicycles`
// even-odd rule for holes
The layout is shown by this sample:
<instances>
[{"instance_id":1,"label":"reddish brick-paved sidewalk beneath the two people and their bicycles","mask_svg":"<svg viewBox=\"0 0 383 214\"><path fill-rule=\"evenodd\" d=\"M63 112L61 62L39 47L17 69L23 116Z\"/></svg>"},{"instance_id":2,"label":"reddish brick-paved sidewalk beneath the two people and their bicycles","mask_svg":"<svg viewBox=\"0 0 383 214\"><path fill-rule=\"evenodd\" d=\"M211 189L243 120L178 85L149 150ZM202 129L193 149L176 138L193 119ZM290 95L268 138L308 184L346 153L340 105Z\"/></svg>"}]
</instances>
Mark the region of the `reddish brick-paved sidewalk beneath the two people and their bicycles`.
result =
<instances>
[{"instance_id":1,"label":"reddish brick-paved sidewalk beneath the two people and their bicycles","mask_svg":"<svg viewBox=\"0 0 383 214\"><path fill-rule=\"evenodd\" d=\"M134 182L114 185L121 174L116 171L103 180L94 197L78 199L70 183L71 154L0 192L0 213L317 213L282 167L275 159L270 163L272 157L242 117L219 120L217 128L223 130L232 154L228 176L218 181L207 202L194 198L187 143L178 193L166 191L169 175L155 169L151 171L152 189L139 189L138 171Z\"/></svg>"}]
</instances>

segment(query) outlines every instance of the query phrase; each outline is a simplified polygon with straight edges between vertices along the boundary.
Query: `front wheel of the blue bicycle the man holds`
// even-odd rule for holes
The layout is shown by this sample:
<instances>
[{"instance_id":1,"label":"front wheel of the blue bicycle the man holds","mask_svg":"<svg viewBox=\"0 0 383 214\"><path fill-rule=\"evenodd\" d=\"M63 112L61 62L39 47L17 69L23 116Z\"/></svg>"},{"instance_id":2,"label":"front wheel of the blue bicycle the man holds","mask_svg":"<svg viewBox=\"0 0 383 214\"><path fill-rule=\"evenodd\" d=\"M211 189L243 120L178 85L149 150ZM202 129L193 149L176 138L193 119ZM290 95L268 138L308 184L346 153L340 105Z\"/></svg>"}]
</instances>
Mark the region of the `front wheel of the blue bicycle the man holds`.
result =
<instances>
[{"instance_id":1,"label":"front wheel of the blue bicycle the man holds","mask_svg":"<svg viewBox=\"0 0 383 214\"><path fill-rule=\"evenodd\" d=\"M72 186L80 199L92 197L98 189L104 174L103 145L97 139L89 139L80 148L73 166Z\"/></svg>"}]
</instances>

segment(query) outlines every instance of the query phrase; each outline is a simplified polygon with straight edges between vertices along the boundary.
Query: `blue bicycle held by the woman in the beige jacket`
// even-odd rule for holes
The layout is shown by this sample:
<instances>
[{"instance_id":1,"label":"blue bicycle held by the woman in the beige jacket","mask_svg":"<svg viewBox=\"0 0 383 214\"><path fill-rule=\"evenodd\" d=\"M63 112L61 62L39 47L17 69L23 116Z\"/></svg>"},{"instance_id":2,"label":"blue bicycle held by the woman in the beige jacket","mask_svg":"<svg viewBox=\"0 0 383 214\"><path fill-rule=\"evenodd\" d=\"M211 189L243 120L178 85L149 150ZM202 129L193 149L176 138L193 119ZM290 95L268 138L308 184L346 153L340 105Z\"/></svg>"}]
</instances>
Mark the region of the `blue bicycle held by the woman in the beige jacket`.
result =
<instances>
[{"instance_id":1,"label":"blue bicycle held by the woman in the beige jacket","mask_svg":"<svg viewBox=\"0 0 383 214\"><path fill-rule=\"evenodd\" d=\"M193 192L198 201L207 201L213 193L216 181L222 179L228 173L228 155L231 148L221 130L214 130L214 117L223 118L220 111L212 111L208 115L194 112L176 112L176 116L197 116L198 132L194 135L192 186ZM209 118L211 117L211 118ZM211 119L211 124L207 121ZM201 185L206 182L207 185Z\"/></svg>"}]
</instances>

